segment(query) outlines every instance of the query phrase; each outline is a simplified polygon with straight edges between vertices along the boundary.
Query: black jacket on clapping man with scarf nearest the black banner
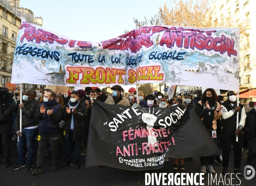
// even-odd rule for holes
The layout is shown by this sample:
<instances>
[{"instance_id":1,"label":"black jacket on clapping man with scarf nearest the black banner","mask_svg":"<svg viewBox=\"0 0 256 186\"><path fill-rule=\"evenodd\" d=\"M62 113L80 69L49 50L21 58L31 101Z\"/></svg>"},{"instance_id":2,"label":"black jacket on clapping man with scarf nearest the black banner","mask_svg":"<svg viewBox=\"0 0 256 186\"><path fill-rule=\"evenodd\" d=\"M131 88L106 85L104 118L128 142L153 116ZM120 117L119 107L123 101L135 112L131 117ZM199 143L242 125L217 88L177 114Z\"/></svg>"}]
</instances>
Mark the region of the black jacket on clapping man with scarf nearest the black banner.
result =
<instances>
[{"instance_id":1,"label":"black jacket on clapping man with scarf nearest the black banner","mask_svg":"<svg viewBox=\"0 0 256 186\"><path fill-rule=\"evenodd\" d=\"M69 105L67 104L64 108L66 110L69 108ZM71 109L70 109L71 110ZM68 138L68 134L70 131L70 126L71 126L71 120L72 120L72 115L74 115L74 136L73 140L82 138L84 136L84 123L87 117L87 108L85 105L79 104L76 107L76 112L73 113L72 111L70 114L67 112L64 114L63 121L67 121L66 125L64 126L64 138Z\"/></svg>"}]
</instances>

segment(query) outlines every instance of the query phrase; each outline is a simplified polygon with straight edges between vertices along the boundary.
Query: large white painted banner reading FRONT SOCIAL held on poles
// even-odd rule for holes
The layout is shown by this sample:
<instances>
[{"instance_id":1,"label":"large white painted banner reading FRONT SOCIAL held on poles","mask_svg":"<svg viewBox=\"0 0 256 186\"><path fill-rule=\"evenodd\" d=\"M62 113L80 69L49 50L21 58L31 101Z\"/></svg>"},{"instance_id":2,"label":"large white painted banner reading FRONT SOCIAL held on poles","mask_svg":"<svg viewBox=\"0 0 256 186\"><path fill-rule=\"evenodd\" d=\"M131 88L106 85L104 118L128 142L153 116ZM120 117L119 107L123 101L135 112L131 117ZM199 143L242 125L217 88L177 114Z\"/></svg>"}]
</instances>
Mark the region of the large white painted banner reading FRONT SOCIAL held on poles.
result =
<instances>
[{"instance_id":1,"label":"large white painted banner reading FRONT SOCIAL held on poles","mask_svg":"<svg viewBox=\"0 0 256 186\"><path fill-rule=\"evenodd\" d=\"M22 20L12 83L171 83L239 90L239 29L145 26L100 43Z\"/></svg>"}]
</instances>

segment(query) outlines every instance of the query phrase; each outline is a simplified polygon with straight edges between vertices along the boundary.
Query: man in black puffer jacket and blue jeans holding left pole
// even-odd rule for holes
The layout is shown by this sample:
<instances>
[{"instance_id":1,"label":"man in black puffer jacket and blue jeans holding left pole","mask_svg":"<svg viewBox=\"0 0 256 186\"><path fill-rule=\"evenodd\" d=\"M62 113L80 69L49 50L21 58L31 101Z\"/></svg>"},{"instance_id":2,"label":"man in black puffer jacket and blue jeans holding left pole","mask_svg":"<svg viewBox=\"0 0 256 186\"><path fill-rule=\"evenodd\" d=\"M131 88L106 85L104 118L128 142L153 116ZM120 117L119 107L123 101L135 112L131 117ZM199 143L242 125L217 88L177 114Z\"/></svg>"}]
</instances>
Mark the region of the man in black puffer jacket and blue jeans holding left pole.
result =
<instances>
[{"instance_id":1,"label":"man in black puffer jacket and blue jeans holding left pole","mask_svg":"<svg viewBox=\"0 0 256 186\"><path fill-rule=\"evenodd\" d=\"M24 103L19 104L19 109L17 110L16 120L15 120L15 131L18 135L17 149L18 149L18 163L12 168L12 170L17 170L26 166L26 171L33 168L33 161L35 157L35 146L34 138L35 133L38 128L38 120L34 118L35 110L38 108L38 102L33 100L35 94L33 91L29 90L24 92L22 97ZM22 132L20 132L20 109L22 110ZM25 164L25 146L28 149L28 159Z\"/></svg>"}]
</instances>

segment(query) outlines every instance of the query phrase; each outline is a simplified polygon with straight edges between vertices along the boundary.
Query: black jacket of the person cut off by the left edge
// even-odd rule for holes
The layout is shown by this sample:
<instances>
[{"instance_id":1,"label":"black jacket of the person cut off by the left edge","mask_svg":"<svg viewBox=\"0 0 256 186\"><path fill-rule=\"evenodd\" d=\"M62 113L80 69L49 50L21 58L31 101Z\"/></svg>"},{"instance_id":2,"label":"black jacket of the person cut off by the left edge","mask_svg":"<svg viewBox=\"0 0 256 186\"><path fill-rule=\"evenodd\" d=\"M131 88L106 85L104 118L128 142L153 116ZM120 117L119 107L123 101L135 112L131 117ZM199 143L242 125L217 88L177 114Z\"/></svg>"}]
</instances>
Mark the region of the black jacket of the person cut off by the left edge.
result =
<instances>
[{"instance_id":1,"label":"black jacket of the person cut off by the left edge","mask_svg":"<svg viewBox=\"0 0 256 186\"><path fill-rule=\"evenodd\" d=\"M0 125L11 122L12 113L16 105L12 95L4 89L0 89Z\"/></svg>"}]
</instances>

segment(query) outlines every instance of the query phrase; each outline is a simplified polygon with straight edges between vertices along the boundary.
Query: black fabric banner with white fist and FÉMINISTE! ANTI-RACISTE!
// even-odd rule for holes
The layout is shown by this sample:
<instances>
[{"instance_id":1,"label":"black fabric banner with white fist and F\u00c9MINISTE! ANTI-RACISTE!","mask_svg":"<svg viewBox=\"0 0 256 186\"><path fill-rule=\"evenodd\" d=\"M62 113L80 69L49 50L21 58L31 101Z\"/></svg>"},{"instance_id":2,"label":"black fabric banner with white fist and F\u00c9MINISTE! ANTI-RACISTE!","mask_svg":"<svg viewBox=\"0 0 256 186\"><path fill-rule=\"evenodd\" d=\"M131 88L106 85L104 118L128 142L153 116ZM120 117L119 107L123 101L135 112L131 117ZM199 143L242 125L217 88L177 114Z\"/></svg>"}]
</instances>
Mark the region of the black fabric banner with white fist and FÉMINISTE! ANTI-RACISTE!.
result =
<instances>
[{"instance_id":1,"label":"black fabric banner with white fist and F\u00c9MINISTE! ANTI-RACISTE!","mask_svg":"<svg viewBox=\"0 0 256 186\"><path fill-rule=\"evenodd\" d=\"M190 104L131 108L95 101L86 165L153 170L165 157L218 155L220 150Z\"/></svg>"}]
</instances>

